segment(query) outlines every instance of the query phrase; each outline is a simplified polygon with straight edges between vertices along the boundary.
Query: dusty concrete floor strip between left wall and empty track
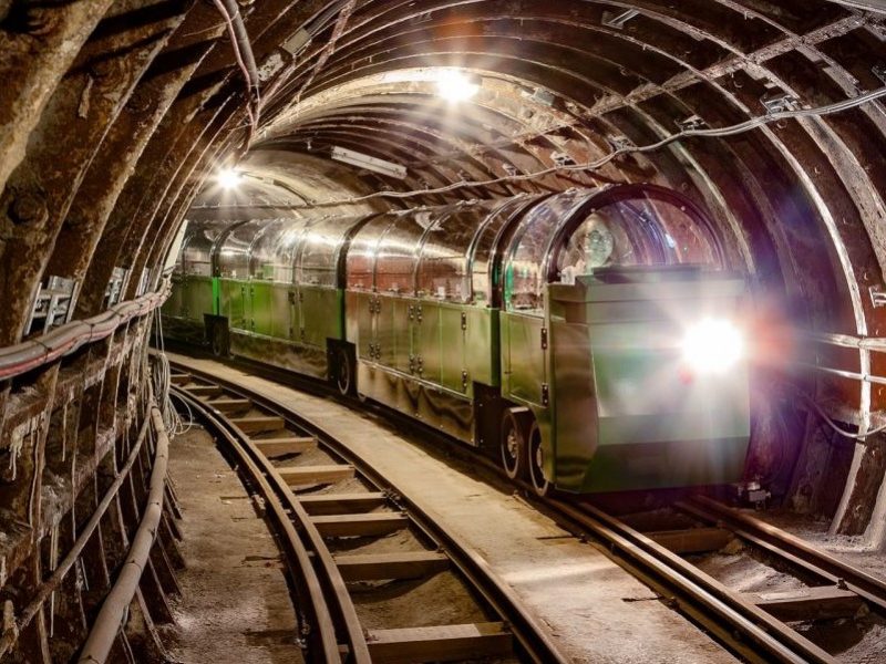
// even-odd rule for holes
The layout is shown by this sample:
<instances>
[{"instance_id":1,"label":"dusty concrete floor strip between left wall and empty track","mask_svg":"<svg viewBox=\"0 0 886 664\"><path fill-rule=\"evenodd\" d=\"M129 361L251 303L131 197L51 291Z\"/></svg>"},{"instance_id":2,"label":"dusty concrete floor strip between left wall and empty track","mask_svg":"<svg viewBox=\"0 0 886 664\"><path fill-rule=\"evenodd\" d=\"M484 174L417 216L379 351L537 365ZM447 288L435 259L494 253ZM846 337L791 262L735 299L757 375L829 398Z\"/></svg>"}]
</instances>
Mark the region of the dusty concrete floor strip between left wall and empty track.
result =
<instances>
[{"instance_id":1,"label":"dusty concrete floor strip between left wall and empty track","mask_svg":"<svg viewBox=\"0 0 886 664\"><path fill-rule=\"evenodd\" d=\"M182 598L163 631L182 664L302 661L282 561L237 475L202 428L177 436L171 476L182 504Z\"/></svg>"}]
</instances>

